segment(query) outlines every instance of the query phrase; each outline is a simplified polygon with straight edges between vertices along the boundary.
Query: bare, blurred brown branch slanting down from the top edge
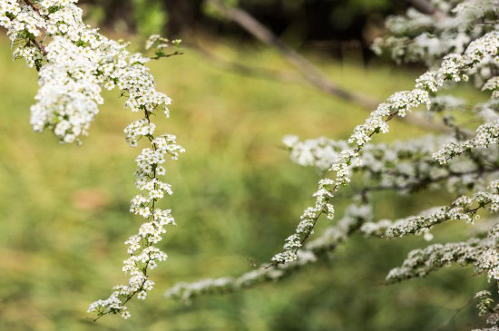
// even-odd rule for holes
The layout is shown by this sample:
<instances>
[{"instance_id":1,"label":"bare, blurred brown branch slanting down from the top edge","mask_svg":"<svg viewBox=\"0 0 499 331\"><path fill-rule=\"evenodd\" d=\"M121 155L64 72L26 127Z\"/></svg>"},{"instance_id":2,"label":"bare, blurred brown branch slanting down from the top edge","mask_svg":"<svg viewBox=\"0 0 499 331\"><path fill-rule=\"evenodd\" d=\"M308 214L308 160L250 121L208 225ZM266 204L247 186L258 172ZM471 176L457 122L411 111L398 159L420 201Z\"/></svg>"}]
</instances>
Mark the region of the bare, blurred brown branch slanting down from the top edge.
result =
<instances>
[{"instance_id":1,"label":"bare, blurred brown branch slanting down from the top edge","mask_svg":"<svg viewBox=\"0 0 499 331\"><path fill-rule=\"evenodd\" d=\"M336 96L347 102L352 102L358 106L365 108L367 110L374 110L377 108L379 102L376 100L356 92L348 92L345 89L339 87L336 83L332 83L328 77L321 73L312 63L309 63L307 59L298 54L294 49L289 47L279 40L279 38L273 34L267 27L259 23L253 16L249 15L248 12L241 8L233 8L224 5L220 0L206 0L210 5L213 5L219 10L221 15L231 21L239 24L244 28L249 34L252 34L259 39L264 44L275 48L282 54L289 63L291 63L298 72L308 80L313 86L317 87L320 91L326 92L329 95ZM232 69L236 69L236 72L241 72L241 67L239 65L231 65ZM244 68L247 69L247 68ZM248 70L243 70L244 73L249 73ZM425 118L417 115L411 116L410 120L406 117L399 117L398 120L406 122L412 125L416 125L426 130L431 131L447 131L444 125L430 122Z\"/></svg>"}]
</instances>

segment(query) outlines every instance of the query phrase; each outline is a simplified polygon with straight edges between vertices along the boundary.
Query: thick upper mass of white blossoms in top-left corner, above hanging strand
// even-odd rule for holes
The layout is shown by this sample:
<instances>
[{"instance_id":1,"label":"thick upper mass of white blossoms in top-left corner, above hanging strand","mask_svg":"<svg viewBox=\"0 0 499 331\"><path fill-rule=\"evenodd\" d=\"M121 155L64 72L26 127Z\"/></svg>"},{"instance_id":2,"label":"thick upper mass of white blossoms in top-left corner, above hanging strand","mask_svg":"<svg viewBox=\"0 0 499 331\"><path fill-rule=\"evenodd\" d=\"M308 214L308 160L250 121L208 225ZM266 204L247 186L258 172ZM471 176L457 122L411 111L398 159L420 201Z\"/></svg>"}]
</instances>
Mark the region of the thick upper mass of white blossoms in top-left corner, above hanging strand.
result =
<instances>
[{"instance_id":1,"label":"thick upper mass of white blossoms in top-left corner, above hanging strand","mask_svg":"<svg viewBox=\"0 0 499 331\"><path fill-rule=\"evenodd\" d=\"M35 131L50 129L61 142L79 141L103 103L102 89L118 87L128 97L132 112L166 113L171 100L157 92L149 69L150 59L131 54L83 23L75 0L11 1L0 7L0 22L8 29L16 57L36 66L40 89L32 107ZM29 24L28 24L29 23ZM44 46L35 38L44 34Z\"/></svg>"}]
</instances>

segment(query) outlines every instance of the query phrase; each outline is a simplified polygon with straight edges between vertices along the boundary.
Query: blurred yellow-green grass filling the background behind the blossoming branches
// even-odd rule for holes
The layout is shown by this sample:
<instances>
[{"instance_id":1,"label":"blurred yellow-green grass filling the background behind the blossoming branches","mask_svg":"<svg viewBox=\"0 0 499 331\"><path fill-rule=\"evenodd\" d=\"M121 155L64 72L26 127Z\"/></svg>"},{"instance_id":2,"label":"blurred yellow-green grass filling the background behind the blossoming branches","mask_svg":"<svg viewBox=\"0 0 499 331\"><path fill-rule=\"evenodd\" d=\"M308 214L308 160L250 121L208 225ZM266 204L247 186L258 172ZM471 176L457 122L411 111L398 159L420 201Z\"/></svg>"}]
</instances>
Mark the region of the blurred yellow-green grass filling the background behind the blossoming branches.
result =
<instances>
[{"instance_id":1,"label":"blurred yellow-green grass filling the background behind the blossoming branches","mask_svg":"<svg viewBox=\"0 0 499 331\"><path fill-rule=\"evenodd\" d=\"M207 43L226 59L290 70L267 50ZM418 74L310 56L340 85L380 100L410 88ZM29 107L36 75L12 62L0 39L0 330L433 330L487 287L472 270L456 268L384 286L387 271L426 243L355 237L332 260L279 284L202 297L191 306L165 299L163 291L177 281L238 275L250 269L247 258L262 263L277 252L318 179L288 160L281 137L346 138L367 112L311 88L222 72L193 51L152 63L152 72L174 101L171 119L156 120L158 131L177 134L187 150L167 166L175 193L164 206L179 226L161 245L170 258L152 274L157 287L145 302L132 303L132 319L93 324L87 305L123 281L122 242L140 222L127 212L139 150L122 135L136 114L110 93L82 147L34 133ZM422 133L395 123L377 141ZM404 216L445 198L381 194L377 216ZM339 199L338 210L344 205ZM327 225L322 220L320 227ZM465 230L449 224L435 240L462 239ZM446 329L470 328L475 315L467 307Z\"/></svg>"}]
</instances>

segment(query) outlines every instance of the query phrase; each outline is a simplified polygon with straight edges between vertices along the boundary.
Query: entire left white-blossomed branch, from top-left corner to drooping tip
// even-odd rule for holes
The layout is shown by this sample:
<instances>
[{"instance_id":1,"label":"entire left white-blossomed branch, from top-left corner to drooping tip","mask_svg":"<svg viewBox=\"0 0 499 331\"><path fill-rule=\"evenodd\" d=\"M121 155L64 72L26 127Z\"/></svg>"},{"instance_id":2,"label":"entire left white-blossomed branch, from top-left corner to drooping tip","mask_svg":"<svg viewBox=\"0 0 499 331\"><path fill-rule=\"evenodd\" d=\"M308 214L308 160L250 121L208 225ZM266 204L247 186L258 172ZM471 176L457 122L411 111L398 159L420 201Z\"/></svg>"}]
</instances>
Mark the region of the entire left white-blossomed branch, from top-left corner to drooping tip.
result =
<instances>
[{"instance_id":1,"label":"entire left white-blossomed branch, from top-left corner to drooping tip","mask_svg":"<svg viewBox=\"0 0 499 331\"><path fill-rule=\"evenodd\" d=\"M171 194L170 184L159 176L166 171L162 163L168 157L176 160L183 149L170 134L153 135L152 114L160 111L168 115L171 100L156 91L145 65L150 58L130 53L127 44L113 41L84 24L83 11L76 3L77 0L3 0L0 26L7 29L15 45L15 58L24 58L28 66L39 72L40 88L31 108L34 131L48 129L62 143L80 143L103 103L103 89L118 88L126 96L126 108L143 114L142 119L124 131L132 146L142 138L150 144L136 160L136 186L142 194L133 198L130 209L146 222L126 241L129 258L123 262L122 270L130 276L128 284L114 287L111 297L98 300L89 308L98 317L121 314L128 318L125 304L135 295L140 299L147 296L154 285L148 271L166 259L166 254L154 245L161 241L165 226L174 224L174 219L171 210L156 206L165 194ZM155 58L162 55L156 54Z\"/></svg>"}]
</instances>

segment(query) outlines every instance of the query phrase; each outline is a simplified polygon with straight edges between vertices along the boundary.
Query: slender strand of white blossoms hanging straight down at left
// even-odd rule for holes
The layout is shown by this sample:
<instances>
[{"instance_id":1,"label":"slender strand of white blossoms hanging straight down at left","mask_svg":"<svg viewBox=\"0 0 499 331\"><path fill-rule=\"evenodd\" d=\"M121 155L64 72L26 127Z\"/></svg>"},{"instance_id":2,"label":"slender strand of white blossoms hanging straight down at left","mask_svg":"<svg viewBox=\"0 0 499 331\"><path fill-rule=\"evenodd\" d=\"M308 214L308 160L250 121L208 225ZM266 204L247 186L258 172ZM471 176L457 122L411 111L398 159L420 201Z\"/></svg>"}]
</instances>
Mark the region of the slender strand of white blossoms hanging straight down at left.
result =
<instances>
[{"instance_id":1,"label":"slender strand of white blossoms hanging straight down at left","mask_svg":"<svg viewBox=\"0 0 499 331\"><path fill-rule=\"evenodd\" d=\"M142 216L146 222L142 224L138 234L132 235L125 241L128 246L129 258L123 262L122 271L131 277L127 285L114 287L111 297L95 301L89 312L96 311L98 317L106 314L121 313L128 318L130 313L125 307L133 296L145 299L154 283L149 280L148 272L157 267L157 263L164 261L167 256L154 245L159 243L166 232L165 226L175 224L170 209L159 209L156 202L171 195L171 185L161 181L158 177L165 174L162 164L170 158L177 160L179 153L184 150L176 142L176 137L171 134L162 134L154 137L155 125L151 116L155 110L161 109L168 114L165 105L170 99L154 90L152 75L143 63L147 62L139 54L133 54L129 60L129 67L123 66L118 71L116 84L128 94L126 106L132 112L142 111L144 117L132 122L124 129L126 140L136 146L142 138L148 140L151 147L144 148L136 159L136 187L142 193L132 199L130 211Z\"/></svg>"}]
</instances>

